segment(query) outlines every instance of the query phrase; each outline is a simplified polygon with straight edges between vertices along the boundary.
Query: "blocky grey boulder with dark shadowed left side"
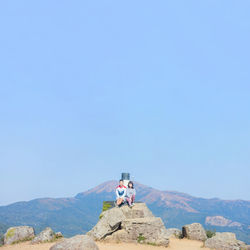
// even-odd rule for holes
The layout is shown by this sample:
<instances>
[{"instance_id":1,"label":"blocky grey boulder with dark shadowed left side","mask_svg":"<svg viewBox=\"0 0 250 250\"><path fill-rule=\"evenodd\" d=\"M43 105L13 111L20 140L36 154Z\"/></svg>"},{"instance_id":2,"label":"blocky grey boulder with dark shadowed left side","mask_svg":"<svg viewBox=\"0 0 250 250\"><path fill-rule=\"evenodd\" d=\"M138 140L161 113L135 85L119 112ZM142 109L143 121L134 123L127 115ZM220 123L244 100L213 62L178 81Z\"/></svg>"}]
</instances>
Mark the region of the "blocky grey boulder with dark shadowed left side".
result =
<instances>
[{"instance_id":1,"label":"blocky grey boulder with dark shadowed left side","mask_svg":"<svg viewBox=\"0 0 250 250\"><path fill-rule=\"evenodd\" d=\"M182 235L190 240L205 241L206 231L200 223L193 223L182 227Z\"/></svg>"}]
</instances>

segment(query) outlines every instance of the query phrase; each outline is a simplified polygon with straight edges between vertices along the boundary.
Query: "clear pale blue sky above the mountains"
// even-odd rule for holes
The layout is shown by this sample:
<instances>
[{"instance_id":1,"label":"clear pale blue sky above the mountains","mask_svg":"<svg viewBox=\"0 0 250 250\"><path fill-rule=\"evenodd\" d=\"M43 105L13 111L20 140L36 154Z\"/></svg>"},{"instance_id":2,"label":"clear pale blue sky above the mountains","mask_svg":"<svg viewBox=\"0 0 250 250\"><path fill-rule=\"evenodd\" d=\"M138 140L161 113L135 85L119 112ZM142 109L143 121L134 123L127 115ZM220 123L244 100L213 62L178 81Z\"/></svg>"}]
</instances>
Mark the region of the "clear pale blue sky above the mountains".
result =
<instances>
[{"instance_id":1,"label":"clear pale blue sky above the mountains","mask_svg":"<svg viewBox=\"0 0 250 250\"><path fill-rule=\"evenodd\" d=\"M128 171L250 200L250 1L1 1L0 205Z\"/></svg>"}]
</instances>

